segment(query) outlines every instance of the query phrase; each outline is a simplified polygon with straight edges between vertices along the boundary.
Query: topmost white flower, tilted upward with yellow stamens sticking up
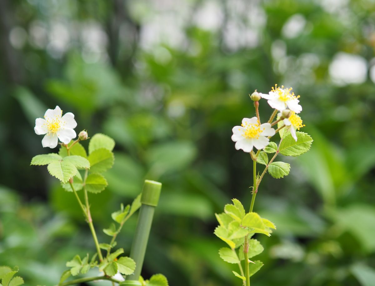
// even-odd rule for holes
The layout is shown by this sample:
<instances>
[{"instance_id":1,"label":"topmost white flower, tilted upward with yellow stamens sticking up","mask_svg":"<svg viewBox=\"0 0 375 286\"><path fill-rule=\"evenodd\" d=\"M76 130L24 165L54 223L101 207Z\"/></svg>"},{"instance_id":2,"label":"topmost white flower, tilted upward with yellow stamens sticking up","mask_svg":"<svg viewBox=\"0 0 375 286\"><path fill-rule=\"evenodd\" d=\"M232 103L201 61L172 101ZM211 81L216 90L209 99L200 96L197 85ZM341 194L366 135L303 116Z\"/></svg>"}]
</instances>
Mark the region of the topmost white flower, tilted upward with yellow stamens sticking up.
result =
<instances>
[{"instance_id":1,"label":"topmost white flower, tilted upward with yellow stamens sticking up","mask_svg":"<svg viewBox=\"0 0 375 286\"><path fill-rule=\"evenodd\" d=\"M284 86L280 88L275 84L275 88L272 87L272 90L268 94L261 93L260 95L268 99L267 102L272 108L279 111L288 108L295 113L300 113L302 111L302 106L298 104L300 101L297 99L300 96L294 95L294 92L291 93L291 90L292 88L284 88Z\"/></svg>"}]
</instances>

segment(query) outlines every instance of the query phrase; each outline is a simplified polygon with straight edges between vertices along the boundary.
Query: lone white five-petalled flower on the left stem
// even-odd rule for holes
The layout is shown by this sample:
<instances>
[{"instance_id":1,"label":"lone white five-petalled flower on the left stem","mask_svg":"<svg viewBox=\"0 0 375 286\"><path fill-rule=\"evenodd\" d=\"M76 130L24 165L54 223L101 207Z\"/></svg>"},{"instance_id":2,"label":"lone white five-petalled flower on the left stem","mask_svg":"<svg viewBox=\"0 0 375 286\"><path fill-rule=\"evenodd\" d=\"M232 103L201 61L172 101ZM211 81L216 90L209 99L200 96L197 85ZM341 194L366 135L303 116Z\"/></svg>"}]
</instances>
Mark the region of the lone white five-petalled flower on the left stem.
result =
<instances>
[{"instance_id":1,"label":"lone white five-petalled flower on the left stem","mask_svg":"<svg viewBox=\"0 0 375 286\"><path fill-rule=\"evenodd\" d=\"M35 120L34 131L37 135L45 136L42 139L42 146L55 148L57 146L57 138L61 142L68 144L72 139L77 137L73 130L77 126L74 120L74 114L71 112L65 113L62 117L63 111L56 106L55 109L47 109L43 118Z\"/></svg>"}]
</instances>

